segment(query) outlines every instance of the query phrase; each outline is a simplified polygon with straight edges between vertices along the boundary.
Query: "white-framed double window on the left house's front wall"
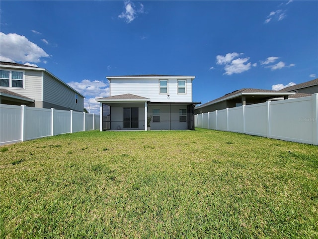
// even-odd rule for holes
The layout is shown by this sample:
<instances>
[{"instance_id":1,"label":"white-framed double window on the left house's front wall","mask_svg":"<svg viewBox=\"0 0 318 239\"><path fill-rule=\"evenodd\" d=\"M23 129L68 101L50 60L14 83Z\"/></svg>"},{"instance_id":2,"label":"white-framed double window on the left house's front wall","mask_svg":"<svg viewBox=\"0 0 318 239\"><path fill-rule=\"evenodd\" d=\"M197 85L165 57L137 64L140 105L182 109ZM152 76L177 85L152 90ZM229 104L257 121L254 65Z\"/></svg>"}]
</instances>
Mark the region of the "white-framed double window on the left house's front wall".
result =
<instances>
[{"instance_id":1,"label":"white-framed double window on the left house's front wall","mask_svg":"<svg viewBox=\"0 0 318 239\"><path fill-rule=\"evenodd\" d=\"M0 86L23 88L24 74L22 71L0 70Z\"/></svg>"}]
</instances>

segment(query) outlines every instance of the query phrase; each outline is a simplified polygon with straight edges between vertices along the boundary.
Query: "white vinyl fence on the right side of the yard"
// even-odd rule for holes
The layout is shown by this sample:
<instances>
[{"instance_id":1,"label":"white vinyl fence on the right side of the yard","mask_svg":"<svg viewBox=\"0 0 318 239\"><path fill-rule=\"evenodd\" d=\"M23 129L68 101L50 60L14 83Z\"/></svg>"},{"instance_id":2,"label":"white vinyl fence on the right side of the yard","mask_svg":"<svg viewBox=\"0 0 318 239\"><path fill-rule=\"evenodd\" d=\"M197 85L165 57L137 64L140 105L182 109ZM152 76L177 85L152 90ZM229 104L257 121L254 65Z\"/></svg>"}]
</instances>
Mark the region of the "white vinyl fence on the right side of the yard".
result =
<instances>
[{"instance_id":1,"label":"white vinyl fence on the right side of the yard","mask_svg":"<svg viewBox=\"0 0 318 239\"><path fill-rule=\"evenodd\" d=\"M318 94L195 115L199 128L318 145Z\"/></svg>"}]
</instances>

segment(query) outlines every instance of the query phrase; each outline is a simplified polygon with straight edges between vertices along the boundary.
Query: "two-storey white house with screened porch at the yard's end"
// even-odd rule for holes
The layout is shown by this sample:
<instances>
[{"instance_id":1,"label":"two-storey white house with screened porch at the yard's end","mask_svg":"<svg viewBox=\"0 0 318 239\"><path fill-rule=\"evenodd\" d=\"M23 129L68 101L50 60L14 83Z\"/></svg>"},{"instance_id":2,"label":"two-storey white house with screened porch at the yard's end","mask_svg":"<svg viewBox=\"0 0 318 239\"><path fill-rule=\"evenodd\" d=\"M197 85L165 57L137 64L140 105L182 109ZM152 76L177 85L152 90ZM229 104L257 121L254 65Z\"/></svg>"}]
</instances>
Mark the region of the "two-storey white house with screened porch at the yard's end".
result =
<instances>
[{"instance_id":1,"label":"two-storey white house with screened porch at the yard's end","mask_svg":"<svg viewBox=\"0 0 318 239\"><path fill-rule=\"evenodd\" d=\"M110 76L110 96L99 98L100 130L194 129L194 76ZM103 121L103 122L102 122Z\"/></svg>"}]
</instances>

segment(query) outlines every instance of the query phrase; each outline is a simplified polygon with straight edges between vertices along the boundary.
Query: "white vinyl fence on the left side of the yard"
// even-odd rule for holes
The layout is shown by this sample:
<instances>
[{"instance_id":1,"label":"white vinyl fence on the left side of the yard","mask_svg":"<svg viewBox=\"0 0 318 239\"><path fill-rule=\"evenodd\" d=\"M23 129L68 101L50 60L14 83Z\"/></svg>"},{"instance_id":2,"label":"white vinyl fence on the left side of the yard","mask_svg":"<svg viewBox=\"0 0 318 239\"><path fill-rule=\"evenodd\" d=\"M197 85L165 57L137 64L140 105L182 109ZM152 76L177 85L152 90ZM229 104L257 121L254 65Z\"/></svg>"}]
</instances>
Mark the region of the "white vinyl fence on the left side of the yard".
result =
<instances>
[{"instance_id":1,"label":"white vinyl fence on the left side of the yard","mask_svg":"<svg viewBox=\"0 0 318 239\"><path fill-rule=\"evenodd\" d=\"M0 145L94 129L99 129L99 115L0 105Z\"/></svg>"}]
</instances>

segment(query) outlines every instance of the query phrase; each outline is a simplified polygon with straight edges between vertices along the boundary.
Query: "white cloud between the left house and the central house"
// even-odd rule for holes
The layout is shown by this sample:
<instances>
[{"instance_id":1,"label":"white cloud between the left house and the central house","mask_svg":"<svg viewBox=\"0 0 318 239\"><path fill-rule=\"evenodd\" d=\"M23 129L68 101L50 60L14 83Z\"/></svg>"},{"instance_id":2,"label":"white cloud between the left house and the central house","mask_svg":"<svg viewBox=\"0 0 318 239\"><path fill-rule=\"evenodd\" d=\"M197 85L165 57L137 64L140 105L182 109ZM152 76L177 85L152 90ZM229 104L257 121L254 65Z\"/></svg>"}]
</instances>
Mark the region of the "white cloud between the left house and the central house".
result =
<instances>
[{"instance_id":1,"label":"white cloud between the left house and the central house","mask_svg":"<svg viewBox=\"0 0 318 239\"><path fill-rule=\"evenodd\" d=\"M90 113L99 114L99 102L95 98L108 97L109 85L102 81L82 80L81 82L69 82L72 88L84 95L84 108Z\"/></svg>"}]
</instances>

